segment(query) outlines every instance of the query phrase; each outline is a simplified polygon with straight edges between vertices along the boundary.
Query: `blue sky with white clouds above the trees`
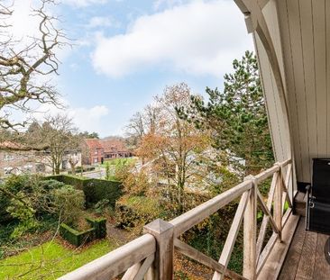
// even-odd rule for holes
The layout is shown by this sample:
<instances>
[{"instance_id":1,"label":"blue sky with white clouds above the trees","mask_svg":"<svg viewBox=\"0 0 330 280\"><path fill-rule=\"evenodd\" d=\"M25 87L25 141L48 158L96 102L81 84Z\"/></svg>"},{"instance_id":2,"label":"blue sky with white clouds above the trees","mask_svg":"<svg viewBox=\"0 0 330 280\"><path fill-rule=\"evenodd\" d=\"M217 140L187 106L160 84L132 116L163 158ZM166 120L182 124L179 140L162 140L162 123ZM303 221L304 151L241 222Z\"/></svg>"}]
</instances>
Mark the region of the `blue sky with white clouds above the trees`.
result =
<instances>
[{"instance_id":1,"label":"blue sky with white clouds above the trees","mask_svg":"<svg viewBox=\"0 0 330 280\"><path fill-rule=\"evenodd\" d=\"M35 2L16 0L17 31L33 32L24 13ZM58 53L54 79L66 113L101 137L124 135L133 113L165 86L185 82L199 95L223 88L233 59L253 50L233 0L62 0L51 13L72 42ZM59 112L38 111L38 119Z\"/></svg>"}]
</instances>

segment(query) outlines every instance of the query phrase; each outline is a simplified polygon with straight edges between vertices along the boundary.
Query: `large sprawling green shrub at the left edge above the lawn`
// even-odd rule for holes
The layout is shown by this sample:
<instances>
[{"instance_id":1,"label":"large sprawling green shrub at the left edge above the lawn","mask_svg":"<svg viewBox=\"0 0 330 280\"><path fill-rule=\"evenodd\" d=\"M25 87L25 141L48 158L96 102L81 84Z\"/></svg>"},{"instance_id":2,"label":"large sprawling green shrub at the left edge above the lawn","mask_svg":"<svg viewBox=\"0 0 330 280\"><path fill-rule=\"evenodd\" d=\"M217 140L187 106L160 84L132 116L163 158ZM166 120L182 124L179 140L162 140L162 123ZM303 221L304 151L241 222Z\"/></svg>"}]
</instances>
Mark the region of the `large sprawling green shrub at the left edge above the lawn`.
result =
<instances>
[{"instance_id":1,"label":"large sprawling green shrub at the left edge above the lawn","mask_svg":"<svg viewBox=\"0 0 330 280\"><path fill-rule=\"evenodd\" d=\"M12 239L49 229L59 217L75 223L85 204L83 191L56 180L41 180L40 176L9 176L2 187L5 192L0 193L1 210L7 219L2 221L14 220Z\"/></svg>"}]
</instances>

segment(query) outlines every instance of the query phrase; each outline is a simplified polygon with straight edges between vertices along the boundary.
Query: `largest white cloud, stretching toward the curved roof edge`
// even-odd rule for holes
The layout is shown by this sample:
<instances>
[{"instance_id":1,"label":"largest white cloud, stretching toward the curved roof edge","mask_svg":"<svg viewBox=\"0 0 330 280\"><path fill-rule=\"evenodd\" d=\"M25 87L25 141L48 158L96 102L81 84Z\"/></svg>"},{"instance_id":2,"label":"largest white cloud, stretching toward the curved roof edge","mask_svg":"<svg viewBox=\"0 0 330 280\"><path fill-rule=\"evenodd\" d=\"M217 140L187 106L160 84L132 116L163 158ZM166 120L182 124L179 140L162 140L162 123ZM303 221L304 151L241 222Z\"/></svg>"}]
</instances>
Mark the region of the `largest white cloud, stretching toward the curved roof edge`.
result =
<instances>
[{"instance_id":1,"label":"largest white cloud, stretching toward the curved roof edge","mask_svg":"<svg viewBox=\"0 0 330 280\"><path fill-rule=\"evenodd\" d=\"M252 39L232 1L194 1L141 16L124 34L98 34L92 61L97 72L109 77L143 68L221 77L247 49Z\"/></svg>"}]
</instances>

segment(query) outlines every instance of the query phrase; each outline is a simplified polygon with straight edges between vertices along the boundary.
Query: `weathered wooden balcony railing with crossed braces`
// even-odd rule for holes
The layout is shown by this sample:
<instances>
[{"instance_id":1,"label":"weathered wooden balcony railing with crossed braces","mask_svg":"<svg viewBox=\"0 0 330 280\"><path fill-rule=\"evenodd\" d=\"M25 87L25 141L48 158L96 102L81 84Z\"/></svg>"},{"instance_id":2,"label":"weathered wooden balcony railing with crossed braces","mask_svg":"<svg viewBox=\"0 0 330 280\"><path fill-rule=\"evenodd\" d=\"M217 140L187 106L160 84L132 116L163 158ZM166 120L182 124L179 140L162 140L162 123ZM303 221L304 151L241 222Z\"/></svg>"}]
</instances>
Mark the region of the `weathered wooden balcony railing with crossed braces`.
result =
<instances>
[{"instance_id":1,"label":"weathered wooden balcony railing with crossed braces","mask_svg":"<svg viewBox=\"0 0 330 280\"><path fill-rule=\"evenodd\" d=\"M258 185L270 176L272 176L270 192L265 203ZM144 227L142 237L81 266L60 279L112 279L124 272L122 279L172 279L174 250L212 268L215 271L213 280L224 279L225 276L233 279L256 279L270 256L271 248L277 241L281 241L282 228L289 219L292 210L288 192L291 177L291 159L277 163L257 176L247 176L243 183L172 221L160 219L152 221ZM241 197L240 203L218 262L178 239L182 233L239 197ZM285 202L289 203L286 212L284 212ZM264 212L258 237L257 203ZM238 275L227 269L227 266L242 221L243 275ZM269 222L273 233L263 247Z\"/></svg>"}]
</instances>

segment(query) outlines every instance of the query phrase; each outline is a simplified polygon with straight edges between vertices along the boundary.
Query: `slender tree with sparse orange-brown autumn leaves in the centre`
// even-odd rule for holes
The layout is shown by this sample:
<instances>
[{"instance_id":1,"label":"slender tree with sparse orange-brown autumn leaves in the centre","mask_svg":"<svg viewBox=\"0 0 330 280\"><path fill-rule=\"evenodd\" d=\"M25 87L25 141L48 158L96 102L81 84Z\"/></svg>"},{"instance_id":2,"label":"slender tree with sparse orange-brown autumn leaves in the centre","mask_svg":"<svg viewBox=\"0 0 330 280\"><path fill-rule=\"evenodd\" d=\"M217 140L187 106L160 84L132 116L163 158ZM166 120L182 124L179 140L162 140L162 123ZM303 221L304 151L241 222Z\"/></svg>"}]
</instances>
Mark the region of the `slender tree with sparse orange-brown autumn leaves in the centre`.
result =
<instances>
[{"instance_id":1,"label":"slender tree with sparse orange-brown autumn leaves in the centre","mask_svg":"<svg viewBox=\"0 0 330 280\"><path fill-rule=\"evenodd\" d=\"M185 187L198 185L207 176L207 168L199 163L206 157L210 140L206 131L198 131L193 123L179 118L177 109L191 102L186 84L167 86L155 101L160 110L157 129L142 137L137 155L152 162L160 179L175 185L175 199L182 212Z\"/></svg>"}]
</instances>

